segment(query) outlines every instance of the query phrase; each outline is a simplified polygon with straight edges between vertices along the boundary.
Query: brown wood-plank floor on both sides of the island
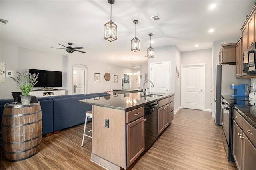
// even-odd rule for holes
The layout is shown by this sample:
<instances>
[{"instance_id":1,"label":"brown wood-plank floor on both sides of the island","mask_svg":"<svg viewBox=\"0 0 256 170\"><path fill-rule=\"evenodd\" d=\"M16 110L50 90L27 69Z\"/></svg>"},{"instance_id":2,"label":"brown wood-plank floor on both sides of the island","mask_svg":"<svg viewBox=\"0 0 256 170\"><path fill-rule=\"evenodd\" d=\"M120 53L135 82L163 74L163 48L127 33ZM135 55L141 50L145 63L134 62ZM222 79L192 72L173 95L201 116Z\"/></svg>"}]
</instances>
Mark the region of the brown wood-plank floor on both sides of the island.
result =
<instances>
[{"instance_id":1,"label":"brown wood-plank floor on both sides of the island","mask_svg":"<svg viewBox=\"0 0 256 170\"><path fill-rule=\"evenodd\" d=\"M89 124L90 125L90 124ZM40 152L18 162L8 162L1 150L1 170L101 170L90 162L91 139L81 147L84 125L42 138ZM210 112L180 109L172 124L129 170L236 170L228 162L222 127Z\"/></svg>"}]
</instances>

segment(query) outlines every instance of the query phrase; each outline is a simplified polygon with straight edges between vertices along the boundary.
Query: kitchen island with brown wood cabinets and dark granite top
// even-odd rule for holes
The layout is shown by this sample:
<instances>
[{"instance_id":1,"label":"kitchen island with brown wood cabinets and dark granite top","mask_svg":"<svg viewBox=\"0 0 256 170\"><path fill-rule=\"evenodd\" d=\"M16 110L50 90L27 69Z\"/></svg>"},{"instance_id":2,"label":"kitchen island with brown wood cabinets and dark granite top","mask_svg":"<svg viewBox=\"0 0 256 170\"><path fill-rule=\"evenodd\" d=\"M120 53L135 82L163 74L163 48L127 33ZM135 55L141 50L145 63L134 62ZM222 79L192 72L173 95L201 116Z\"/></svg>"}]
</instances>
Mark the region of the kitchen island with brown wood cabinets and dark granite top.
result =
<instances>
[{"instance_id":1,"label":"kitchen island with brown wood cabinets and dark granite top","mask_svg":"<svg viewBox=\"0 0 256 170\"><path fill-rule=\"evenodd\" d=\"M145 150L144 105L158 103L155 128L160 135L173 119L173 95L126 93L80 100L92 105L90 160L106 169L127 169Z\"/></svg>"}]
</instances>

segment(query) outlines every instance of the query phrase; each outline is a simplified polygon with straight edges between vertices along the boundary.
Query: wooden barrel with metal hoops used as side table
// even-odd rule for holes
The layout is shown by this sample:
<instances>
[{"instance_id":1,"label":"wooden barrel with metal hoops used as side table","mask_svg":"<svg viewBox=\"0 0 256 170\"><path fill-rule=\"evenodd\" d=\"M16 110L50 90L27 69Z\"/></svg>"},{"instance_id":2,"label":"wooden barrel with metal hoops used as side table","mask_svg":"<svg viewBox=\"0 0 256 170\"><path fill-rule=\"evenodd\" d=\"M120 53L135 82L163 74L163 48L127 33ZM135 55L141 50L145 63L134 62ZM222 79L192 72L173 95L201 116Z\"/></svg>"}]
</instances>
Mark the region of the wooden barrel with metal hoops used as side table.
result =
<instances>
[{"instance_id":1,"label":"wooden barrel with metal hoops used as side table","mask_svg":"<svg viewBox=\"0 0 256 170\"><path fill-rule=\"evenodd\" d=\"M2 117L4 156L10 161L30 158L40 150L42 111L40 102L30 105L7 103Z\"/></svg>"}]
</instances>

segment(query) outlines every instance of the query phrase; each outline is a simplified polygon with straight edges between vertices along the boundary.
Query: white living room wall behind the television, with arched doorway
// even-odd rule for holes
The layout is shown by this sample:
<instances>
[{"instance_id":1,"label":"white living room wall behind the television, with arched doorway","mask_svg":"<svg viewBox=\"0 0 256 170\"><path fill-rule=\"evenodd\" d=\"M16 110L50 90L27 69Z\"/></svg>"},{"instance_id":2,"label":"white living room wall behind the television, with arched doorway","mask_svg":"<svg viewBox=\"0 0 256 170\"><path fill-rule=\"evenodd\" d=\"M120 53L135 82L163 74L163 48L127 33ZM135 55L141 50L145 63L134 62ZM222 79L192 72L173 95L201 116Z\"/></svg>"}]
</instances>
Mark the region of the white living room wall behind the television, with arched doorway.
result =
<instances>
[{"instance_id":1,"label":"white living room wall behind the television, with arched doorway","mask_svg":"<svg viewBox=\"0 0 256 170\"><path fill-rule=\"evenodd\" d=\"M1 42L1 61L5 62L6 69L16 71L25 71L28 69L44 69L52 71L62 71L63 80L61 89L66 90L66 94L72 94L72 67L75 64L83 64L88 67L88 85L87 93L98 93L111 91L121 88L121 73L128 73L130 68L120 67L112 64L100 63L90 60L89 54L86 55L68 55L61 56L31 49L19 48L8 43ZM110 69L109 69L110 67ZM110 81L104 79L104 74L108 72L111 75ZM94 73L100 73L100 81L94 81ZM114 82L114 75L118 75L118 82ZM1 83L2 99L11 99L12 91L20 91L16 83L6 77L6 82Z\"/></svg>"}]
</instances>

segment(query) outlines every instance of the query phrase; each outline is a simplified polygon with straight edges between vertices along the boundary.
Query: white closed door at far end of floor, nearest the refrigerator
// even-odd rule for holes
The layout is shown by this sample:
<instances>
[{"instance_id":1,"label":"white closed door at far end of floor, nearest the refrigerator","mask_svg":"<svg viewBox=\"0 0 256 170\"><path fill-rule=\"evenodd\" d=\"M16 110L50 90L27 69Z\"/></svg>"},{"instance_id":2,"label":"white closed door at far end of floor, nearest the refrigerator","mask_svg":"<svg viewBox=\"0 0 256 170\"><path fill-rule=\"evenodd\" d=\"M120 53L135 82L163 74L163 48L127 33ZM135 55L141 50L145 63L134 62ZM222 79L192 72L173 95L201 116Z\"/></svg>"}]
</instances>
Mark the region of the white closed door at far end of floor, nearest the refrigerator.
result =
<instances>
[{"instance_id":1,"label":"white closed door at far end of floor, nearest the refrigerator","mask_svg":"<svg viewBox=\"0 0 256 170\"><path fill-rule=\"evenodd\" d=\"M182 107L203 110L205 65L182 65Z\"/></svg>"}]
</instances>

